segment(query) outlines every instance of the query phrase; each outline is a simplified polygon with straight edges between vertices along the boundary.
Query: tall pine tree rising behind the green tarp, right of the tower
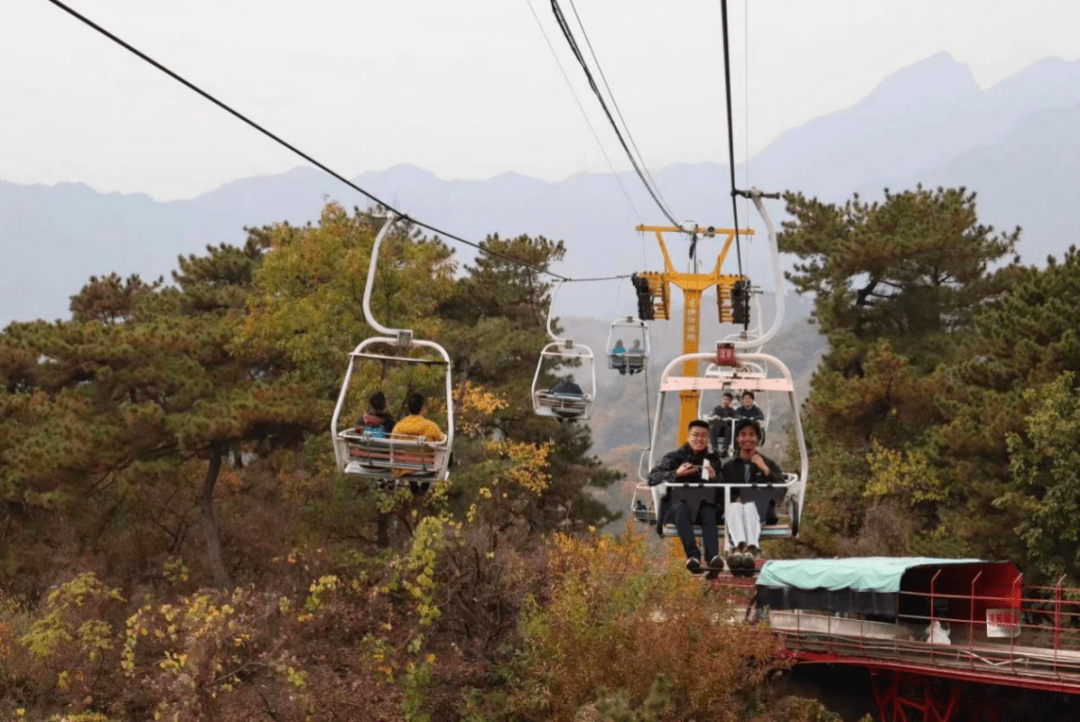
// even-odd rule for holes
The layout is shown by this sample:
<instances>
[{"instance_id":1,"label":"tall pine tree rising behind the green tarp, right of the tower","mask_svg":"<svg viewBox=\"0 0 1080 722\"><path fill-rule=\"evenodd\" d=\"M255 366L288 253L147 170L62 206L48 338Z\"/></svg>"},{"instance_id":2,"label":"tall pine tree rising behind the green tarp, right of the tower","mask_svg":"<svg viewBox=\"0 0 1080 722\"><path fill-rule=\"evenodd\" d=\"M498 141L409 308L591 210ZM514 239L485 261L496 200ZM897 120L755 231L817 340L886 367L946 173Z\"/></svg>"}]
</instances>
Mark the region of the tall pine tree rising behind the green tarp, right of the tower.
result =
<instances>
[{"instance_id":1,"label":"tall pine tree rising behind the green tarp, right of the tower","mask_svg":"<svg viewBox=\"0 0 1080 722\"><path fill-rule=\"evenodd\" d=\"M785 200L792 219L780 247L799 258L787 277L813 294L813 321L829 340L806 406L808 542L840 551L885 501L904 517L909 550L941 550L953 532L967 539L949 531L961 515L943 515L939 498L962 476L949 461L956 447L928 441L947 419L944 369L972 318L1023 273L1013 257L1018 229L999 234L980 223L975 195L962 188L887 191L873 203L856 195L840 206Z\"/></svg>"}]
</instances>

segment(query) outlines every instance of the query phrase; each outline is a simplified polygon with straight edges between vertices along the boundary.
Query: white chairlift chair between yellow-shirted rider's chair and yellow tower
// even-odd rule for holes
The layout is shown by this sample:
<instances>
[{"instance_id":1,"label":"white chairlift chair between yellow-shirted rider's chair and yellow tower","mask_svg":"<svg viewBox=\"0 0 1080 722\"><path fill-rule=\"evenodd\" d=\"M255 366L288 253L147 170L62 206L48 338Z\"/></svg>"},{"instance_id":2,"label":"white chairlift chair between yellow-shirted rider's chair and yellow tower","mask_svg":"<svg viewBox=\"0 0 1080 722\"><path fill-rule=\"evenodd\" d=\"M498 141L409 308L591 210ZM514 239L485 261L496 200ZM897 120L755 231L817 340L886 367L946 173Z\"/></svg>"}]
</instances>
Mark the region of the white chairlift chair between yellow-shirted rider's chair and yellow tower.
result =
<instances>
[{"instance_id":1,"label":"white chairlift chair between yellow-shirted rider's chair and yellow tower","mask_svg":"<svg viewBox=\"0 0 1080 722\"><path fill-rule=\"evenodd\" d=\"M537 371L532 376L532 410L540 417L566 421L585 420L589 419L596 397L596 365L589 346L576 344L572 339L561 339L552 329L552 310L555 308L555 294L561 286L562 283L555 287L548 306L548 336L551 337L551 342L540 351ZM588 385L578 386L578 390L565 389L565 381L552 389L541 385L542 381L545 383L542 378L545 370L554 374L557 369L576 363L580 364Z\"/></svg>"}]
</instances>

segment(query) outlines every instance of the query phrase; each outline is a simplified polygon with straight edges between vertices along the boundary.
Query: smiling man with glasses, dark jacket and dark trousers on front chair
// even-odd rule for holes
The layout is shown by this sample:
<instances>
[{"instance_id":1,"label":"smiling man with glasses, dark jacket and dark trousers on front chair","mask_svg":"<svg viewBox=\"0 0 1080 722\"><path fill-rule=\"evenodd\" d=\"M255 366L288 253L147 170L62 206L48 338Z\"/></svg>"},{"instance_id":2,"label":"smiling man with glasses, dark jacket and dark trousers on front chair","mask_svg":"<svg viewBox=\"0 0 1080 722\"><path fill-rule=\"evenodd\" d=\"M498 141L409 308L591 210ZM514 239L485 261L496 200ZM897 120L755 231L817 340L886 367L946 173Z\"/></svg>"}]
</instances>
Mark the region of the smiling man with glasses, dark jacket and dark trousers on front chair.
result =
<instances>
[{"instance_id":1,"label":"smiling man with glasses, dark jacket and dark trousers on front chair","mask_svg":"<svg viewBox=\"0 0 1080 722\"><path fill-rule=\"evenodd\" d=\"M716 469L720 466L720 460L708 450L708 424L694 419L690 422L688 432L686 444L665 455L649 472L650 487L658 483L717 481ZM693 535L694 523L701 525L701 542L705 547L708 568L715 571L724 569L724 560L719 556L719 532L716 527L716 487L667 491L669 498L675 501L666 505L666 509L663 510L664 518L660 522L667 523L669 519L675 521L675 530L686 553L686 568L693 574L704 571L698 540Z\"/></svg>"}]
</instances>

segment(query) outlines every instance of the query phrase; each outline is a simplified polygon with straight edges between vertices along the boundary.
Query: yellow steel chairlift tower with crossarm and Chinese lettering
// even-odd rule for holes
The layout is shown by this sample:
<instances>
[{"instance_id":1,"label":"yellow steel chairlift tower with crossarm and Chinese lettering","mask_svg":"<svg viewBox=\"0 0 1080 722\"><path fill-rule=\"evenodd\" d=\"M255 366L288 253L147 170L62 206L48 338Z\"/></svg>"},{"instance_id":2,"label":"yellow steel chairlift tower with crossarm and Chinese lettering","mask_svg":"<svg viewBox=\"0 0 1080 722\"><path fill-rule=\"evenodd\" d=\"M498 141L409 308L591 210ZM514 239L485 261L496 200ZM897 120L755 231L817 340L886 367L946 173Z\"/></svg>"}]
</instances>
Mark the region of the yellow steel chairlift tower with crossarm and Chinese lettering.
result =
<instances>
[{"instance_id":1,"label":"yellow steel chairlift tower with crossarm and Chinese lettering","mask_svg":"<svg viewBox=\"0 0 1080 722\"><path fill-rule=\"evenodd\" d=\"M637 274L635 285L638 294L647 294L652 305L652 316L654 318L670 319L670 298L669 287L674 285L683 289L683 353L693 354L700 351L699 342L701 337L701 296L706 288L716 286L716 304L721 324L743 324L746 319L745 302L748 300L748 280L742 275L725 275L720 273L724 259L731 248L731 242L735 237L734 229L730 228L702 228L696 226L694 230L689 228L678 228L675 226L638 226L638 232L652 231L657 234L657 243L664 256L664 270L660 272L646 271ZM671 255L664 244L664 233L694 233L697 236L714 237L726 235L724 247L716 257L716 265L712 273L679 273L672 264ZM739 229L743 235L753 235L753 229ZM646 286L647 284L647 286ZM697 376L697 362L687 362L683 365L683 376ZM679 393L679 444L686 441L686 427L698 417L697 391L684 391Z\"/></svg>"}]
</instances>

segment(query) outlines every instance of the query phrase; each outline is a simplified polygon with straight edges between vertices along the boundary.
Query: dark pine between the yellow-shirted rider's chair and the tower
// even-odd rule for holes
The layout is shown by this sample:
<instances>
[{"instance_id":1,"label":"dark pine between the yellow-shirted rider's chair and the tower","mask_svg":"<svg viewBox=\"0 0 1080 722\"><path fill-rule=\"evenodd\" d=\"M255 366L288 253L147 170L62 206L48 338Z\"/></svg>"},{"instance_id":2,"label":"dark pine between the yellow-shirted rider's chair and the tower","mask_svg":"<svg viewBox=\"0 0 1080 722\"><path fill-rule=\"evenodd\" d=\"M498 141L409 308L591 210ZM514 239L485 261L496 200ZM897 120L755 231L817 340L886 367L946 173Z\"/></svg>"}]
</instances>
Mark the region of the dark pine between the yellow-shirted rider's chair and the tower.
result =
<instances>
[{"instance_id":1,"label":"dark pine between the yellow-shirted rider's chair and the tower","mask_svg":"<svg viewBox=\"0 0 1080 722\"><path fill-rule=\"evenodd\" d=\"M465 275L441 305L453 332L447 349L458 373L459 387L480 384L503 399L502 408L484 421L484 434L463 439L461 458L475 463L463 469L456 483L458 499L471 500L499 478L512 458L528 458L526 448L550 448L545 463L521 472L532 481L503 486L488 505L496 526L526 521L548 531L561 526L600 526L613 518L610 509L589 491L619 478L590 455L589 427L557 423L532 411L531 385L546 333L552 285L540 271L562 260L562 242L543 236L491 235L481 246ZM558 329L556 327L556 332ZM572 373L576 366L544 369L539 383L551 387L556 373ZM494 453L494 455L492 455ZM524 454L524 457L523 457Z\"/></svg>"}]
</instances>

